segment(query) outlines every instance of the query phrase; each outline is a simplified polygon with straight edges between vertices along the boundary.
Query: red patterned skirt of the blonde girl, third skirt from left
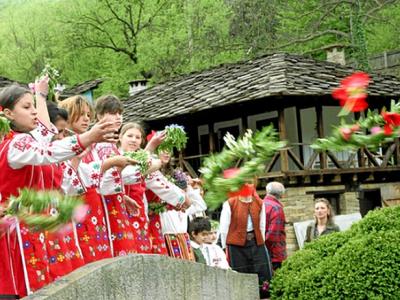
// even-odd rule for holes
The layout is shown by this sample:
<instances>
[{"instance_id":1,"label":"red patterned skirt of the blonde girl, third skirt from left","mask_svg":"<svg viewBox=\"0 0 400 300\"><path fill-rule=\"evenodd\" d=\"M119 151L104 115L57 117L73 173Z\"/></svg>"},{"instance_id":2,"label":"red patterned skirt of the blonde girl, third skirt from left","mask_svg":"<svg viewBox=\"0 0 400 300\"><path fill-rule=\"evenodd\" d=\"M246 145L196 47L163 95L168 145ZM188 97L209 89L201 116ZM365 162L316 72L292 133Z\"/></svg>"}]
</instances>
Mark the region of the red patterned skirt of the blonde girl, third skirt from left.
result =
<instances>
[{"instance_id":1,"label":"red patterned skirt of the blonde girl, third skirt from left","mask_svg":"<svg viewBox=\"0 0 400 300\"><path fill-rule=\"evenodd\" d=\"M110 258L110 236L107 230L103 203L96 189L91 188L83 195L89 206L86 218L76 224L79 247L85 263Z\"/></svg>"}]
</instances>

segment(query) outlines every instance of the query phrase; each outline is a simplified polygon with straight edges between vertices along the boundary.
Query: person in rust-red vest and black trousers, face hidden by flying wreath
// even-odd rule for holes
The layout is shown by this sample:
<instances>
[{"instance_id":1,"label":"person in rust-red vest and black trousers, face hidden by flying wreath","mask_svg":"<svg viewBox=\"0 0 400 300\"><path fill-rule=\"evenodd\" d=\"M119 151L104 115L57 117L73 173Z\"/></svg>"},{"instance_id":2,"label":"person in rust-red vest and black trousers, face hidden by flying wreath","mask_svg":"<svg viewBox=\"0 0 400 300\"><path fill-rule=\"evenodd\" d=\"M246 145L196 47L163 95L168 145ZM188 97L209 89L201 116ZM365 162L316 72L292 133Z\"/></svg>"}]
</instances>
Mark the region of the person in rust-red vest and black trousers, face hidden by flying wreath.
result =
<instances>
[{"instance_id":1,"label":"person in rust-red vest and black trousers, face hidden by flying wreath","mask_svg":"<svg viewBox=\"0 0 400 300\"><path fill-rule=\"evenodd\" d=\"M239 169L225 170L224 177L232 178L238 172ZM220 232L222 247L227 248L231 268L242 273L256 273L260 297L268 296L262 288L272 277L265 247L265 207L253 184L246 183L238 192L229 194L221 211Z\"/></svg>"}]
</instances>

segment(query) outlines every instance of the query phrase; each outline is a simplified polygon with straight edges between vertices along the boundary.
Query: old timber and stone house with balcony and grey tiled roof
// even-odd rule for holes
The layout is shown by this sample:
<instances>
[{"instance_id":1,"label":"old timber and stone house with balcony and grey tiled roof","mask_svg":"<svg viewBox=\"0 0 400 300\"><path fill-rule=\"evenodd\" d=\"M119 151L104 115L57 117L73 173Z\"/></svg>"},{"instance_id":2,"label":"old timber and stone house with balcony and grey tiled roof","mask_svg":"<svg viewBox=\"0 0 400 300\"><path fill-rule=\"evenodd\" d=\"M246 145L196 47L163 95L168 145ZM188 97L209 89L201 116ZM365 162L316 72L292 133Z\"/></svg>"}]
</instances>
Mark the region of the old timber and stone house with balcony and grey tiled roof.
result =
<instances>
[{"instance_id":1,"label":"old timber and stone house with balcony and grey tiled roof","mask_svg":"<svg viewBox=\"0 0 400 300\"><path fill-rule=\"evenodd\" d=\"M313 200L328 198L336 213L360 211L400 199L399 142L378 152L317 153L310 144L337 125L338 101L331 92L353 73L349 67L279 53L196 72L140 91L125 101L126 121L145 121L152 129L185 126L189 143L180 163L195 173L201 157L224 146L226 132L238 136L246 128L274 124L289 148L266 165L266 182L287 187L283 199L290 249L296 248L291 224L311 219ZM389 107L400 98L400 81L372 74L370 109ZM358 118L359 115L352 116Z\"/></svg>"}]
</instances>

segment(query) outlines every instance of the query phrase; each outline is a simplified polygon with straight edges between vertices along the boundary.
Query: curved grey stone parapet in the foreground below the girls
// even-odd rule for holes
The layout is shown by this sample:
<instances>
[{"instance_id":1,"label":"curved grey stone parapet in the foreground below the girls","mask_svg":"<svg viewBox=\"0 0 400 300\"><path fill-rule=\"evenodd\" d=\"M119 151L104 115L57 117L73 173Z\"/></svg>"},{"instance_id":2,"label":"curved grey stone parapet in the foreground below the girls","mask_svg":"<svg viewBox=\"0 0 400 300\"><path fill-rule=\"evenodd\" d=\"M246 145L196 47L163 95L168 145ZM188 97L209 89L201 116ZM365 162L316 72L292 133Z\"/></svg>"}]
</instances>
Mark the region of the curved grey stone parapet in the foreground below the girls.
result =
<instances>
[{"instance_id":1,"label":"curved grey stone parapet in the foreground below the girls","mask_svg":"<svg viewBox=\"0 0 400 300\"><path fill-rule=\"evenodd\" d=\"M255 274L159 255L129 255L88 264L27 300L259 299Z\"/></svg>"}]
</instances>

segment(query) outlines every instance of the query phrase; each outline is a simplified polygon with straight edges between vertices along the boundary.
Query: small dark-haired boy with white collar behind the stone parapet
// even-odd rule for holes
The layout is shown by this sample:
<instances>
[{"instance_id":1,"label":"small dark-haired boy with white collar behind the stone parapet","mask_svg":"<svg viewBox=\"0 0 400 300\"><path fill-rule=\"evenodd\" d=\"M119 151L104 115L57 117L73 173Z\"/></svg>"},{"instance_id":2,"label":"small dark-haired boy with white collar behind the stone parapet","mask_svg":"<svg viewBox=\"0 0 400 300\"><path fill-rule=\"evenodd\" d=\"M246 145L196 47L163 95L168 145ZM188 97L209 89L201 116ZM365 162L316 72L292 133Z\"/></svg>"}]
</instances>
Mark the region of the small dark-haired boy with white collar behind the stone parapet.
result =
<instances>
[{"instance_id":1,"label":"small dark-haired boy with white collar behind the stone parapet","mask_svg":"<svg viewBox=\"0 0 400 300\"><path fill-rule=\"evenodd\" d=\"M198 217L193 219L189 224L190 245L193 248L194 256L198 263L207 264L202 253L202 248L204 247L204 241L209 236L210 230L211 224L207 218Z\"/></svg>"}]
</instances>

